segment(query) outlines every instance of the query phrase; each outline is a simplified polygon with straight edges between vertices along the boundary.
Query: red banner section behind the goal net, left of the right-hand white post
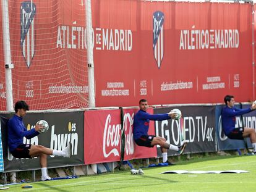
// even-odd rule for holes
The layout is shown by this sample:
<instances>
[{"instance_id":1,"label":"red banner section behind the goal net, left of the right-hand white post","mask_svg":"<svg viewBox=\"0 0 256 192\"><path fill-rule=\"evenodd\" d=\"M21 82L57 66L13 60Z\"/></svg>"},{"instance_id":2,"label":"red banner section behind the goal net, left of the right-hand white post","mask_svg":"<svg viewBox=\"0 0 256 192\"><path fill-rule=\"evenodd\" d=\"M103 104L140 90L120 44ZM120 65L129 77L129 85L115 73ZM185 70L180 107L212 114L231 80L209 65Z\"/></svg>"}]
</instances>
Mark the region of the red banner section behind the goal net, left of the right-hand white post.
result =
<instances>
[{"instance_id":1,"label":"red banner section behind the goal net, left of the right-hand white post","mask_svg":"<svg viewBox=\"0 0 256 192\"><path fill-rule=\"evenodd\" d=\"M14 102L25 100L30 109L87 107L85 5L80 0L8 4ZM0 110L6 110L3 100Z\"/></svg>"}]
</instances>

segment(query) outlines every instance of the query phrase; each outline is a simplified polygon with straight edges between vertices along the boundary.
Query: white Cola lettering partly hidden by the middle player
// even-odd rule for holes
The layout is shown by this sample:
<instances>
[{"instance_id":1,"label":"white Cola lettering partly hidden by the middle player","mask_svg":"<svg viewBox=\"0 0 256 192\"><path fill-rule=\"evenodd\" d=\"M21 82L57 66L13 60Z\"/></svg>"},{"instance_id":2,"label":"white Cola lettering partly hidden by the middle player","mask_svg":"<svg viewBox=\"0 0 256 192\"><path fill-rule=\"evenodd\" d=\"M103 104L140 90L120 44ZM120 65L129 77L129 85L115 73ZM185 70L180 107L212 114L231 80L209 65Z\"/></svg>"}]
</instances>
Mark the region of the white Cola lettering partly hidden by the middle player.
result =
<instances>
[{"instance_id":1,"label":"white Cola lettering partly hidden by the middle player","mask_svg":"<svg viewBox=\"0 0 256 192\"><path fill-rule=\"evenodd\" d=\"M129 113L126 113L124 115L124 134L126 136L126 148L125 152L127 155L134 154L134 133L133 133L133 127L134 127L134 113L130 115Z\"/></svg>"}]
</instances>

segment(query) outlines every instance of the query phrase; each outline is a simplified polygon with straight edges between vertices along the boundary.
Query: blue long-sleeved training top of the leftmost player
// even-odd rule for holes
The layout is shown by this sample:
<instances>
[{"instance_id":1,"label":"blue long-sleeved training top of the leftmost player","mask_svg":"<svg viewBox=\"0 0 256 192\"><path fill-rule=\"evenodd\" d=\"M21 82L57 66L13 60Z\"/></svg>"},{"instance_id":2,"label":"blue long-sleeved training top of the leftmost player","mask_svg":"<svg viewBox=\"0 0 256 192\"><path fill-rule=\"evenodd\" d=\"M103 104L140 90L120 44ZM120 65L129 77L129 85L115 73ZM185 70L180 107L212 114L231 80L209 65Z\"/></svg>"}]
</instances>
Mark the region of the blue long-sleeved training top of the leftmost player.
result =
<instances>
[{"instance_id":1,"label":"blue long-sleeved training top of the leftmost player","mask_svg":"<svg viewBox=\"0 0 256 192\"><path fill-rule=\"evenodd\" d=\"M39 132L32 128L31 130L27 130L24 127L22 122L22 117L14 115L7 123L8 130L8 146L9 150L12 152L14 149L19 146L19 144L23 143L23 137L25 136L28 140L33 138L36 135L39 135Z\"/></svg>"}]
</instances>

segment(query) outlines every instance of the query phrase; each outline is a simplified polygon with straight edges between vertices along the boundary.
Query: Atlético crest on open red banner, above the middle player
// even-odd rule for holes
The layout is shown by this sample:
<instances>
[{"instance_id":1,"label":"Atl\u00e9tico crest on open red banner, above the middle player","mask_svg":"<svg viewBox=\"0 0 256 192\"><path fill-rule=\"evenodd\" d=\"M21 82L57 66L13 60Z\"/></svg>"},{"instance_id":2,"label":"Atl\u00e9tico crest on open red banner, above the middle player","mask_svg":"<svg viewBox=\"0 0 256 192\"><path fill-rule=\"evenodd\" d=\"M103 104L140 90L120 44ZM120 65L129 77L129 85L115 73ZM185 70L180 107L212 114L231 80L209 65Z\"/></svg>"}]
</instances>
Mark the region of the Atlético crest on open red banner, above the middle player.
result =
<instances>
[{"instance_id":1,"label":"Atl\u00e9tico crest on open red banner, above the middle player","mask_svg":"<svg viewBox=\"0 0 256 192\"><path fill-rule=\"evenodd\" d=\"M155 57L156 65L160 69L161 62L163 61L164 54L164 14L161 11L153 13L153 54Z\"/></svg>"}]
</instances>

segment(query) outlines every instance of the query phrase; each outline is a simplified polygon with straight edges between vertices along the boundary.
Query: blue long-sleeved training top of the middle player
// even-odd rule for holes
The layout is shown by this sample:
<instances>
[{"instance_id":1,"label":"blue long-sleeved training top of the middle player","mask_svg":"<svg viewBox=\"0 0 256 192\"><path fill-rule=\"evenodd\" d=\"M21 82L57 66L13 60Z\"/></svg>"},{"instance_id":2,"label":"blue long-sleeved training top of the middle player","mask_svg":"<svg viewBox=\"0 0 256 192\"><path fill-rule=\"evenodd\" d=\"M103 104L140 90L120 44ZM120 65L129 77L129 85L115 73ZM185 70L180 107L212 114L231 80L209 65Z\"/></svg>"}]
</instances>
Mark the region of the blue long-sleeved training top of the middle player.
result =
<instances>
[{"instance_id":1,"label":"blue long-sleeved training top of the middle player","mask_svg":"<svg viewBox=\"0 0 256 192\"><path fill-rule=\"evenodd\" d=\"M134 140L142 135L148 135L150 120L166 120L171 119L168 114L151 115L145 111L139 110L134 116Z\"/></svg>"}]
</instances>

